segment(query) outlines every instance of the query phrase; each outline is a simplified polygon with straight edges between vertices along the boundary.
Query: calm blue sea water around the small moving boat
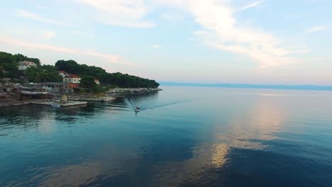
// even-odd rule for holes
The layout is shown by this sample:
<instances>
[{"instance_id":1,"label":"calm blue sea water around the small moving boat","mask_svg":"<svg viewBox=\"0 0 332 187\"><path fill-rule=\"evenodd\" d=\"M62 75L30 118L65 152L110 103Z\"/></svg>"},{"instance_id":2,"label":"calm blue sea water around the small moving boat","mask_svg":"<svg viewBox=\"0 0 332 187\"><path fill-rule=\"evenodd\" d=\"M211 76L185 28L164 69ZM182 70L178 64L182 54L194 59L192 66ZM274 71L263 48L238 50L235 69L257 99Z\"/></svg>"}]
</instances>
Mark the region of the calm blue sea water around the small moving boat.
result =
<instances>
[{"instance_id":1,"label":"calm blue sea water around the small moving boat","mask_svg":"<svg viewBox=\"0 0 332 187\"><path fill-rule=\"evenodd\" d=\"M332 186L331 91L163 89L0 108L0 186Z\"/></svg>"}]
</instances>

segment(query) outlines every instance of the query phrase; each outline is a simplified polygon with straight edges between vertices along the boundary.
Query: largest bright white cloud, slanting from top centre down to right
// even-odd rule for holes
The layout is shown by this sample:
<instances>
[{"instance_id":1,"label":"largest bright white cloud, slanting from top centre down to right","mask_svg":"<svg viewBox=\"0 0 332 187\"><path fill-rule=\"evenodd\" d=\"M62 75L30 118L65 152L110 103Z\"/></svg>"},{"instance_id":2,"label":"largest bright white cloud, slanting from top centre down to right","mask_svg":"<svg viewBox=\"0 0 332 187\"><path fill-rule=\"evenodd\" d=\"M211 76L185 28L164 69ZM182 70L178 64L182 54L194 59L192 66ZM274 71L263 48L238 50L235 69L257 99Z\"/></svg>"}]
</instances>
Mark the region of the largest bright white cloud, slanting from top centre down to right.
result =
<instances>
[{"instance_id":1,"label":"largest bright white cloud, slanting from top centre down to right","mask_svg":"<svg viewBox=\"0 0 332 187\"><path fill-rule=\"evenodd\" d=\"M241 25L233 16L236 8L231 7L229 1L160 1L175 7L187 8L194 21L202 27L202 30L195 34L203 39L205 45L249 57L258 63L260 69L298 63L295 58L289 57L293 55L293 51L289 50L289 46L284 46L280 39L262 29ZM262 1L258 1L245 8L261 3Z\"/></svg>"}]
</instances>

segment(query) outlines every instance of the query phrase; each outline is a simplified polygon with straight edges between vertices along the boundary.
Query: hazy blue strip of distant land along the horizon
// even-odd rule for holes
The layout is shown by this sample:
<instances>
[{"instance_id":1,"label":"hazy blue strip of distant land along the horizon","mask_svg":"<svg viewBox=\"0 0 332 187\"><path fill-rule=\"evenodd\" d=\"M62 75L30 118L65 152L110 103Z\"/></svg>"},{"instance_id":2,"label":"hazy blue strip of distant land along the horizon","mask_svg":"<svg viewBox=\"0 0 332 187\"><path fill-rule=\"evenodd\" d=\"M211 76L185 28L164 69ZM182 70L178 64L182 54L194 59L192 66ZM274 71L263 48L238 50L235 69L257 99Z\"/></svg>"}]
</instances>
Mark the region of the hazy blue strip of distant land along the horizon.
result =
<instances>
[{"instance_id":1,"label":"hazy blue strip of distant land along the horizon","mask_svg":"<svg viewBox=\"0 0 332 187\"><path fill-rule=\"evenodd\" d=\"M332 91L332 86L318 86L318 85L199 84L199 83L160 82L160 86L193 86L193 87L213 87L213 88L233 88L233 89L288 89L288 90Z\"/></svg>"}]
</instances>

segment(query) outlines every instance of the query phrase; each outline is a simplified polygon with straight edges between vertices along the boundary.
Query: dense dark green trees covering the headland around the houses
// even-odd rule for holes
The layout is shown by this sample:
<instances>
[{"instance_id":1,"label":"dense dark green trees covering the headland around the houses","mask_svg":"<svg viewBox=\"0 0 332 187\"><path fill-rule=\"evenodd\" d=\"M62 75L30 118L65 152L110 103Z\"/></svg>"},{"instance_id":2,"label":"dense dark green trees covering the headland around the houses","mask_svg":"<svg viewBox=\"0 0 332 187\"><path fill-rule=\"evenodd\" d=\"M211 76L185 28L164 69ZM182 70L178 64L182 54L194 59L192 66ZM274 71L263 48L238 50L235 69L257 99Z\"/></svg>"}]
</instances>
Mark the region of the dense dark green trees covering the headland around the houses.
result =
<instances>
[{"instance_id":1,"label":"dense dark green trees covering the headland around the houses","mask_svg":"<svg viewBox=\"0 0 332 187\"><path fill-rule=\"evenodd\" d=\"M26 71L18 71L18 62L28 60L35 62L37 67L30 67ZM157 88L159 84L155 80L143 79L128 74L108 73L101 67L78 64L74 60L58 60L55 66L41 65L38 58L26 57L21 54L11 55L7 52L0 52L0 77L18 78L25 77L28 81L62 81L57 71L62 70L69 74L77 74L80 77L93 77L99 79L103 86L121 88ZM98 89L101 86L96 86Z\"/></svg>"}]
</instances>

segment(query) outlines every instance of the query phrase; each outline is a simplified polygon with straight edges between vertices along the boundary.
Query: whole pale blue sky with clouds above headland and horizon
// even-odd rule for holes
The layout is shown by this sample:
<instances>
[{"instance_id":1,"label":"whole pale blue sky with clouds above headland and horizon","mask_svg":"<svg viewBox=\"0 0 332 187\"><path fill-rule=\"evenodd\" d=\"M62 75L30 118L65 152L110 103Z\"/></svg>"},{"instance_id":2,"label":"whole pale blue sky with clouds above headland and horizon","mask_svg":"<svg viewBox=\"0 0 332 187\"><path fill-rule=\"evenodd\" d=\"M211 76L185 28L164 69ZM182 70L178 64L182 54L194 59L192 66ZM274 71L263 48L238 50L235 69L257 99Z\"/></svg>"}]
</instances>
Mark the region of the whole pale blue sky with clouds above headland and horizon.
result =
<instances>
[{"instance_id":1,"label":"whole pale blue sky with clouds above headland and horizon","mask_svg":"<svg viewBox=\"0 0 332 187\"><path fill-rule=\"evenodd\" d=\"M0 51L157 81L332 85L331 0L13 0Z\"/></svg>"}]
</instances>

